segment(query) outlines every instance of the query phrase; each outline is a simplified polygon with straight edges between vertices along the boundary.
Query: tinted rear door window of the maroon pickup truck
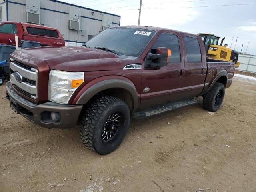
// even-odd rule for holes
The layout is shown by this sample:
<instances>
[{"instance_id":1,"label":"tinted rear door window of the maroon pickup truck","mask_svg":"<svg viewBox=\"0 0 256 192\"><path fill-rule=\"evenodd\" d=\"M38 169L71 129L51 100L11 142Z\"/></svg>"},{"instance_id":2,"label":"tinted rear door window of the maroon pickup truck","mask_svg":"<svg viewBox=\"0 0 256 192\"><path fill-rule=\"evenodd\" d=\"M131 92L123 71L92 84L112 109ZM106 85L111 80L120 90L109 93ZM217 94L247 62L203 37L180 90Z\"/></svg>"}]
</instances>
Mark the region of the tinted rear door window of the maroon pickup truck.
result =
<instances>
[{"instance_id":1,"label":"tinted rear door window of the maroon pickup truck","mask_svg":"<svg viewBox=\"0 0 256 192\"><path fill-rule=\"evenodd\" d=\"M200 62L201 61L201 51L197 38L194 37L184 37L187 60L188 62Z\"/></svg>"}]
</instances>

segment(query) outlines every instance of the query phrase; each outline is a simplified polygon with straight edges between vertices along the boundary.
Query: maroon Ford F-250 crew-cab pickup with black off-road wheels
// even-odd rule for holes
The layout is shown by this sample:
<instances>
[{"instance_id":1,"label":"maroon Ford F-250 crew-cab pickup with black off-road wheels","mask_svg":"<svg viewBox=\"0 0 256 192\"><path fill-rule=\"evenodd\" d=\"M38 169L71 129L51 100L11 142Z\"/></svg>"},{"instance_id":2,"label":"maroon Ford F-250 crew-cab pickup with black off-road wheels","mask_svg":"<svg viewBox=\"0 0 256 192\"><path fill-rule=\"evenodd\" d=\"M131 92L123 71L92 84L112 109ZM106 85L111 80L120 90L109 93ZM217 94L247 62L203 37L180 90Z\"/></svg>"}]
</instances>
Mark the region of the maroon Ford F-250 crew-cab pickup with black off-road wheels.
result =
<instances>
[{"instance_id":1,"label":"maroon Ford F-250 crew-cab pickup with black off-road wheels","mask_svg":"<svg viewBox=\"0 0 256 192\"><path fill-rule=\"evenodd\" d=\"M198 102L216 111L234 62L206 59L200 36L149 26L104 30L84 47L42 47L10 57L10 107L46 128L79 122L99 154L124 139L130 116L146 118Z\"/></svg>"}]
</instances>

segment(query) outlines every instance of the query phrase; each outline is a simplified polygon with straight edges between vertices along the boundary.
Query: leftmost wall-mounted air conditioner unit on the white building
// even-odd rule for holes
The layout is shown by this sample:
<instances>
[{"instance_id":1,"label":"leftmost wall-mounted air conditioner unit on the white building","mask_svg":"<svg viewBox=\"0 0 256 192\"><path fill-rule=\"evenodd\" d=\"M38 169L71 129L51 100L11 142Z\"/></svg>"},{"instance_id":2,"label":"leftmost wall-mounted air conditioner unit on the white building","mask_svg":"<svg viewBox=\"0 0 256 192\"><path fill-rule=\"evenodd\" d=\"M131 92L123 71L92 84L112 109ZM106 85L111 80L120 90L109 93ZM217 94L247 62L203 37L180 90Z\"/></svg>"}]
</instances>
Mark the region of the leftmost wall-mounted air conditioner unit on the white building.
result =
<instances>
[{"instance_id":1,"label":"leftmost wall-mounted air conditioner unit on the white building","mask_svg":"<svg viewBox=\"0 0 256 192\"><path fill-rule=\"evenodd\" d=\"M26 22L40 24L40 0L26 0Z\"/></svg>"}]
</instances>

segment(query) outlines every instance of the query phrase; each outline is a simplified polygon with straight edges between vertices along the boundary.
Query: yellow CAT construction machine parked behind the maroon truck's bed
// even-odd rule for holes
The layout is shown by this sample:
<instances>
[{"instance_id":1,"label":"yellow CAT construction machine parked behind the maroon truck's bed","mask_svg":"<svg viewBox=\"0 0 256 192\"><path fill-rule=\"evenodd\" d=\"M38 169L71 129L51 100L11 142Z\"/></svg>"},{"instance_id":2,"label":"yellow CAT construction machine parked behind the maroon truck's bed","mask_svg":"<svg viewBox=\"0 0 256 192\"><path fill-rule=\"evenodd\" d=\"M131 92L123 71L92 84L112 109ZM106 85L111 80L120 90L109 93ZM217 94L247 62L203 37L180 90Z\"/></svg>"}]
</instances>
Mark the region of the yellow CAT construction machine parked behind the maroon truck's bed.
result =
<instances>
[{"instance_id":1,"label":"yellow CAT construction machine parked behind the maroon truck's bed","mask_svg":"<svg viewBox=\"0 0 256 192\"><path fill-rule=\"evenodd\" d=\"M220 42L220 45L218 45L220 37L208 33L199 33L198 35L204 42L206 57L217 60L233 61L235 62L235 67L239 67L240 62L237 61L239 52L228 48L227 44L222 46L225 38L223 38Z\"/></svg>"}]
</instances>

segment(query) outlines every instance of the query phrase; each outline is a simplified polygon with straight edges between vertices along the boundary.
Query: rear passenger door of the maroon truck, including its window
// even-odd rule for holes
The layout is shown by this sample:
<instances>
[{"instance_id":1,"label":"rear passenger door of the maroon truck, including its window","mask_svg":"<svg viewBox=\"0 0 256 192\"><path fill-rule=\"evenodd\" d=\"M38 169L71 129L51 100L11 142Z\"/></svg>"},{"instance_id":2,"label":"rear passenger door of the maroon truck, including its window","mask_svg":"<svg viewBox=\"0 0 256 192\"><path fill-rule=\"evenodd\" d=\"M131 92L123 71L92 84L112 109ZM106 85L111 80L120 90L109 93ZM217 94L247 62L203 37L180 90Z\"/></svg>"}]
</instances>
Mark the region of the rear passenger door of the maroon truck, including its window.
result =
<instances>
[{"instance_id":1,"label":"rear passenger door of the maroon truck, including its window","mask_svg":"<svg viewBox=\"0 0 256 192\"><path fill-rule=\"evenodd\" d=\"M206 77L206 58L202 40L198 41L198 36L185 35L185 73L183 76L184 90L181 98L198 96L204 88ZM200 37L199 37L200 38ZM201 43L201 44L200 44Z\"/></svg>"}]
</instances>

